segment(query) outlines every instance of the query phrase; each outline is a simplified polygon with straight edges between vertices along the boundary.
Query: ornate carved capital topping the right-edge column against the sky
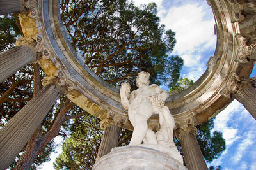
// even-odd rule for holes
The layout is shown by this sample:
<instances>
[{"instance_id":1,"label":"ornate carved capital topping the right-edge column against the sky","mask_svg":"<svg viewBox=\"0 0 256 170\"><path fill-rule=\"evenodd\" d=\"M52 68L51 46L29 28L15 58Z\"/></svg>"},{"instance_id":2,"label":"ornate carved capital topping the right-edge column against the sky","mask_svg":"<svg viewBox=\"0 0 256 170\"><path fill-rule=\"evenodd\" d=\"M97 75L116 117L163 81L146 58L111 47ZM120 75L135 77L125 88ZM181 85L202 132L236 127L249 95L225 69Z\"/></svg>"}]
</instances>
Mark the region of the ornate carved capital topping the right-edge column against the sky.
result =
<instances>
[{"instance_id":1,"label":"ornate carved capital topping the right-edge column against the sky","mask_svg":"<svg viewBox=\"0 0 256 170\"><path fill-rule=\"evenodd\" d=\"M227 81L227 85L220 91L220 94L228 98L233 98L239 90L252 86L250 81L252 81L250 78L239 78L236 73L232 73Z\"/></svg>"}]
</instances>

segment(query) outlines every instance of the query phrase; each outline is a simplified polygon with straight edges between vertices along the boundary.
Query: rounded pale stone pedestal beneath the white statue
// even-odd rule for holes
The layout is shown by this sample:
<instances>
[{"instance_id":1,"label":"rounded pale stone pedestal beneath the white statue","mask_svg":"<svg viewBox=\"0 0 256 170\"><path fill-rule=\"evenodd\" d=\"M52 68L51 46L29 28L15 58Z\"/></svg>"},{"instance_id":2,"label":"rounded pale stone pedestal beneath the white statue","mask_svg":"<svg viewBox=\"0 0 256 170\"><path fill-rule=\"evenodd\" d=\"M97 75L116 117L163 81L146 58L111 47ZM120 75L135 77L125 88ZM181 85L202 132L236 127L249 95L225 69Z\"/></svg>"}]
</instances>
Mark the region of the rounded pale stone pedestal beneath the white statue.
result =
<instances>
[{"instance_id":1,"label":"rounded pale stone pedestal beneath the white statue","mask_svg":"<svg viewBox=\"0 0 256 170\"><path fill-rule=\"evenodd\" d=\"M188 170L178 160L152 148L124 146L101 157L93 170Z\"/></svg>"}]
</instances>

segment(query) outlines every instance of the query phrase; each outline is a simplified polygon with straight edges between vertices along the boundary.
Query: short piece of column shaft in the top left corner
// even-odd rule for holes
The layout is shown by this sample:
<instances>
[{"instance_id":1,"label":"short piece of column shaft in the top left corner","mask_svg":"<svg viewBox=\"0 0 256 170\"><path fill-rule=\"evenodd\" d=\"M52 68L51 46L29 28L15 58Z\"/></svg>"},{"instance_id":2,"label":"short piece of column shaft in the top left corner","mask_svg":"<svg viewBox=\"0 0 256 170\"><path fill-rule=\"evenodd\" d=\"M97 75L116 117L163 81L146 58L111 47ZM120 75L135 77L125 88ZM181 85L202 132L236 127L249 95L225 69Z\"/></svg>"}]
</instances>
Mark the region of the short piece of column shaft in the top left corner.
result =
<instances>
[{"instance_id":1,"label":"short piece of column shaft in the top left corner","mask_svg":"<svg viewBox=\"0 0 256 170\"><path fill-rule=\"evenodd\" d=\"M17 13L24 9L22 0L0 0L0 15Z\"/></svg>"}]
</instances>

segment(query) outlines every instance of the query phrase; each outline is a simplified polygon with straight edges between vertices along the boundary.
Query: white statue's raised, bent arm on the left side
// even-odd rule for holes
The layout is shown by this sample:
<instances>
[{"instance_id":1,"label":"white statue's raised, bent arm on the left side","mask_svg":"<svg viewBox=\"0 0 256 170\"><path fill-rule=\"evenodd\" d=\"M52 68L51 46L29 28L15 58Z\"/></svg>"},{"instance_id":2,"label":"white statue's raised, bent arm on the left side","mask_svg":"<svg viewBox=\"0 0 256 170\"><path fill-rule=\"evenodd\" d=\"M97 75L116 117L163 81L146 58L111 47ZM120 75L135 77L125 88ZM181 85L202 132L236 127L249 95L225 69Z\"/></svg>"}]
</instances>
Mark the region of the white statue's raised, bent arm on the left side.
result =
<instances>
[{"instance_id":1,"label":"white statue's raised, bent arm on the left side","mask_svg":"<svg viewBox=\"0 0 256 170\"><path fill-rule=\"evenodd\" d=\"M122 83L121 89L120 89L120 97L121 97L121 103L124 109L129 108L129 98L130 98L130 89L131 86L129 83Z\"/></svg>"}]
</instances>

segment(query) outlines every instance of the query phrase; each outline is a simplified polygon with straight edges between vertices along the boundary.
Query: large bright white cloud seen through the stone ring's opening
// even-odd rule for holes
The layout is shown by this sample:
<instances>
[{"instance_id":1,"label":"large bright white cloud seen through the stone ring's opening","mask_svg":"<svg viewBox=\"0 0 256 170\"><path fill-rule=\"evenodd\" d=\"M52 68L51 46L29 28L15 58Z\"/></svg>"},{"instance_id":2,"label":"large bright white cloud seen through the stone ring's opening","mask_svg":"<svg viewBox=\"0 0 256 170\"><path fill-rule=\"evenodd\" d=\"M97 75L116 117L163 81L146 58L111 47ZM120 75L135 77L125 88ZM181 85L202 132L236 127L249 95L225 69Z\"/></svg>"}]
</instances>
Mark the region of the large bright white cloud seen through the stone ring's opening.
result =
<instances>
[{"instance_id":1,"label":"large bright white cloud seen through the stone ring's opening","mask_svg":"<svg viewBox=\"0 0 256 170\"><path fill-rule=\"evenodd\" d=\"M166 25L166 29L176 32L175 51L179 55L195 52L198 47L198 50L207 46L215 48L215 22L213 17L211 20L204 20L204 13L202 6L186 4L170 8L161 18L161 23Z\"/></svg>"}]
</instances>

